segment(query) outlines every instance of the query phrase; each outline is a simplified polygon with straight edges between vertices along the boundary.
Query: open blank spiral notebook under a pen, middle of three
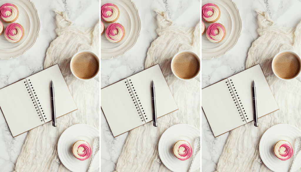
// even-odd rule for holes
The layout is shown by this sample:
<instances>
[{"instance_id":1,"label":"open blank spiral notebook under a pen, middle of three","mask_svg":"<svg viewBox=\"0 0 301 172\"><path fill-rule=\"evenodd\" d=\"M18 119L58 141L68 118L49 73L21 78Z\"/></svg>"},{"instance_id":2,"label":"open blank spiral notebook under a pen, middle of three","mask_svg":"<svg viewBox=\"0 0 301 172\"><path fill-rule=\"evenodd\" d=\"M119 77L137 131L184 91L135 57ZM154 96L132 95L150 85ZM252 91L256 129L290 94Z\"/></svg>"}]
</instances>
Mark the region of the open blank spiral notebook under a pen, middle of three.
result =
<instances>
[{"instance_id":1,"label":"open blank spiral notebook under a pen, middle of three","mask_svg":"<svg viewBox=\"0 0 301 172\"><path fill-rule=\"evenodd\" d=\"M156 92L157 118L178 110L157 64L101 89L101 109L114 137L153 120L152 80Z\"/></svg>"}]
</instances>

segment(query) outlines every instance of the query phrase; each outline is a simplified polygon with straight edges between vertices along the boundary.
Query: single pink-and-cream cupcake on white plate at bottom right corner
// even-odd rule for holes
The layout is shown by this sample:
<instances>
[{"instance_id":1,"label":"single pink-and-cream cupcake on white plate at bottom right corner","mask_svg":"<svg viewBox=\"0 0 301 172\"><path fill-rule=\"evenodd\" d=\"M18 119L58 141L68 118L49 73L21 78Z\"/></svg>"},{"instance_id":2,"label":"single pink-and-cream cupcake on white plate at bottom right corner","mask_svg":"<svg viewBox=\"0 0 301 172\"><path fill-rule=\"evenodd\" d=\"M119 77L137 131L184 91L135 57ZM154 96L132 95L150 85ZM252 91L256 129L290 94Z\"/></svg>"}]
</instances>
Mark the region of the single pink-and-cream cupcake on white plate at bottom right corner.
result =
<instances>
[{"instance_id":1,"label":"single pink-and-cream cupcake on white plate at bottom right corner","mask_svg":"<svg viewBox=\"0 0 301 172\"><path fill-rule=\"evenodd\" d=\"M280 140L274 145L274 154L282 161L290 159L294 154L293 146L286 140Z\"/></svg>"}]
</instances>

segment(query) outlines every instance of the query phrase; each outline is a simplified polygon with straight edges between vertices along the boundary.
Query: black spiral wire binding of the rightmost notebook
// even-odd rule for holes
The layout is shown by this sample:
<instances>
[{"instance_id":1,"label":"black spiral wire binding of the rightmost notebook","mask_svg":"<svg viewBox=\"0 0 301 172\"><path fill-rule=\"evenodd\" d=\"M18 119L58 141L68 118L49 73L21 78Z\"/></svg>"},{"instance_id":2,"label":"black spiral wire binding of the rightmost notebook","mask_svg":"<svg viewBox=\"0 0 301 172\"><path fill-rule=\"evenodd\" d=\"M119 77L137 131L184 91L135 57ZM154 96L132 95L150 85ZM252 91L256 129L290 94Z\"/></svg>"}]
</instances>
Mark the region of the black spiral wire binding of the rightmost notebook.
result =
<instances>
[{"instance_id":1,"label":"black spiral wire binding of the rightmost notebook","mask_svg":"<svg viewBox=\"0 0 301 172\"><path fill-rule=\"evenodd\" d=\"M232 99L233 99L233 101L235 103L235 106L236 106L236 108L237 108L237 110L238 110L238 112L240 114L240 117L243 116L243 117L241 117L241 119L244 119L243 121L246 121L245 117L247 117L247 114L246 114L246 112L245 112L245 110L243 108L242 102L239 100L239 97L238 97L237 91L236 91L236 89L234 87L233 81L232 80L230 80L230 81L228 80L228 81L226 81L226 83L227 83L228 89L229 89L229 91L231 93ZM249 119L249 118L247 118L247 119Z\"/></svg>"}]
</instances>

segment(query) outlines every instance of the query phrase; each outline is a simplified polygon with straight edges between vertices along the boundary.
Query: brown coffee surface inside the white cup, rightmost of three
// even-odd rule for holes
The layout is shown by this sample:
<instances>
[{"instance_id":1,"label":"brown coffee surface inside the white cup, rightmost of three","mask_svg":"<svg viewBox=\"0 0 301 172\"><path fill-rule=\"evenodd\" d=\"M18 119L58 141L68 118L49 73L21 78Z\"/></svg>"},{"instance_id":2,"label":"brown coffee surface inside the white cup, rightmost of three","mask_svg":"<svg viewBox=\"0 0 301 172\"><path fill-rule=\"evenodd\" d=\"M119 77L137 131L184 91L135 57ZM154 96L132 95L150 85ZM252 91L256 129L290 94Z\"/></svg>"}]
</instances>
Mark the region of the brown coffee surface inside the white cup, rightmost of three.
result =
<instances>
[{"instance_id":1,"label":"brown coffee surface inside the white cup, rightmost of three","mask_svg":"<svg viewBox=\"0 0 301 172\"><path fill-rule=\"evenodd\" d=\"M278 55L274 60L274 71L283 79L296 77L300 71L299 58L290 52L284 52Z\"/></svg>"}]
</instances>

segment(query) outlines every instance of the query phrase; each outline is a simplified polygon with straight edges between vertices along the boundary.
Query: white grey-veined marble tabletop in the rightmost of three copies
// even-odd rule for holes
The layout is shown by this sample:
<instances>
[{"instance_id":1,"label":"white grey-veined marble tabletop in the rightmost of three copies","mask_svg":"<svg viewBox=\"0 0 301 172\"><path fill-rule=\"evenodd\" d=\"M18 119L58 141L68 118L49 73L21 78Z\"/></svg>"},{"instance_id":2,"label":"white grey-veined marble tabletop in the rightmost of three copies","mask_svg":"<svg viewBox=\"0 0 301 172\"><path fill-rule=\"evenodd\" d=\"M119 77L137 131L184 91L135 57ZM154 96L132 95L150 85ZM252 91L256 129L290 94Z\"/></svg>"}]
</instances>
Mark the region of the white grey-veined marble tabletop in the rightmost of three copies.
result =
<instances>
[{"instance_id":1,"label":"white grey-veined marble tabletop in the rightmost of three copies","mask_svg":"<svg viewBox=\"0 0 301 172\"><path fill-rule=\"evenodd\" d=\"M247 52L252 42L259 37L256 29L257 14L255 8L267 11L275 25L296 27L301 20L298 0L233 0L240 11L242 30L237 44L224 56L212 60L202 60L202 88L230 77L245 69ZM293 16L293 17L292 17ZM204 101L204 100L203 100ZM202 171L216 170L226 139L230 132L214 138L208 121L202 111Z\"/></svg>"}]
</instances>

